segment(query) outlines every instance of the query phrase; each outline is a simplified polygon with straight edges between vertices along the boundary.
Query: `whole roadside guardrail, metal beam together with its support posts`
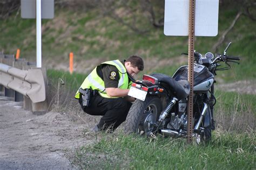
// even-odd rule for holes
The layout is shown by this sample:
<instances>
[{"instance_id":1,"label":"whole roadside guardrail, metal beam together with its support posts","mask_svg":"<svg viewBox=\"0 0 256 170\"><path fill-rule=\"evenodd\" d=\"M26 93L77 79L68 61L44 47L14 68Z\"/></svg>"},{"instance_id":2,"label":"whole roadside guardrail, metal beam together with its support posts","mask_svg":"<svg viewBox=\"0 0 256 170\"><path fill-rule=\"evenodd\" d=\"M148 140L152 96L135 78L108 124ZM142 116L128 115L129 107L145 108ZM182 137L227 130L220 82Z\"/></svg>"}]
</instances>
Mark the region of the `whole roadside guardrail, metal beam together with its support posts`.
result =
<instances>
[{"instance_id":1,"label":"whole roadside guardrail, metal beam together with its support posts","mask_svg":"<svg viewBox=\"0 0 256 170\"><path fill-rule=\"evenodd\" d=\"M33 62L15 59L14 55L0 52L0 92L23 101L23 108L33 114L42 115L48 111L48 83L45 68L36 68Z\"/></svg>"}]
</instances>

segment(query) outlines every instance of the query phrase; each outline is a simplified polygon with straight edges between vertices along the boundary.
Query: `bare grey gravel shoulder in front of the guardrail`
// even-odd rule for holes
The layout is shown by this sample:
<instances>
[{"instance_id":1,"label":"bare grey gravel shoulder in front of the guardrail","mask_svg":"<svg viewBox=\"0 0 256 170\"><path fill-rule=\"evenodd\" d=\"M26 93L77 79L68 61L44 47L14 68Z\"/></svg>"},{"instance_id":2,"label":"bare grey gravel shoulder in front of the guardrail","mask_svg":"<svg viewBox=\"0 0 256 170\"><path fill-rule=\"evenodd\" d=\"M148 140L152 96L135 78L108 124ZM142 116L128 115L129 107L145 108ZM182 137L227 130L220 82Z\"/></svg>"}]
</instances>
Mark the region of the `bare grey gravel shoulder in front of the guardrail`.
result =
<instances>
[{"instance_id":1,"label":"bare grey gravel shoulder in front of the guardrail","mask_svg":"<svg viewBox=\"0 0 256 170\"><path fill-rule=\"evenodd\" d=\"M0 96L0 169L75 169L64 154L95 141L84 122L33 115L22 104Z\"/></svg>"}]
</instances>

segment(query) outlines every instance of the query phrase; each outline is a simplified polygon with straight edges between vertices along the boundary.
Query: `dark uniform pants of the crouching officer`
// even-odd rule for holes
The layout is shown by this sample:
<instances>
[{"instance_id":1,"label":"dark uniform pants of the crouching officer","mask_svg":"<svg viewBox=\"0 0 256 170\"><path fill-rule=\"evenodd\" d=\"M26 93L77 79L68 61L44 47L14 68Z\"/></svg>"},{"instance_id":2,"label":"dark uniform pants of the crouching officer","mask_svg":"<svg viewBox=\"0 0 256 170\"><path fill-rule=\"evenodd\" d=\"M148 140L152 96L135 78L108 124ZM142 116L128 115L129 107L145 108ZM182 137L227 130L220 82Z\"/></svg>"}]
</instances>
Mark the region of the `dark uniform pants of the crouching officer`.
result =
<instances>
[{"instance_id":1,"label":"dark uniform pants of the crouching officer","mask_svg":"<svg viewBox=\"0 0 256 170\"><path fill-rule=\"evenodd\" d=\"M79 103L82 106L82 97L80 97ZM99 129L112 128L114 130L125 121L131 105L131 102L122 97L104 98L96 95L92 97L90 107L82 106L82 109L89 115L103 116L98 123Z\"/></svg>"}]
</instances>

